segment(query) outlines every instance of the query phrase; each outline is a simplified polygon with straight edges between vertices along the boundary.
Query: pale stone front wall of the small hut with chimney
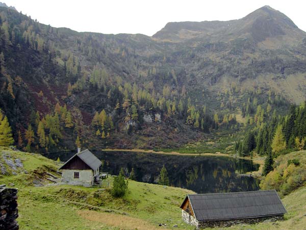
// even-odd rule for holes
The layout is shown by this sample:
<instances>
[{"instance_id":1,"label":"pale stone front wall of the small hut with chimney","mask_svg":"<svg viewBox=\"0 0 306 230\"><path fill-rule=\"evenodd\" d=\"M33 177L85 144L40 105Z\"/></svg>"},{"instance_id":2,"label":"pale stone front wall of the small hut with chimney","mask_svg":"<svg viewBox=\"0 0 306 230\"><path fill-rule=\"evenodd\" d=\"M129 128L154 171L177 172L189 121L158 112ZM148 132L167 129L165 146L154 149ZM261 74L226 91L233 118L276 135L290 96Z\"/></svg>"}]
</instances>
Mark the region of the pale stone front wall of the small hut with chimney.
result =
<instances>
[{"instance_id":1,"label":"pale stone front wall of the small hut with chimney","mask_svg":"<svg viewBox=\"0 0 306 230\"><path fill-rule=\"evenodd\" d=\"M79 178L74 178L74 172L79 172ZM93 170L63 169L62 182L68 185L92 186Z\"/></svg>"}]
</instances>

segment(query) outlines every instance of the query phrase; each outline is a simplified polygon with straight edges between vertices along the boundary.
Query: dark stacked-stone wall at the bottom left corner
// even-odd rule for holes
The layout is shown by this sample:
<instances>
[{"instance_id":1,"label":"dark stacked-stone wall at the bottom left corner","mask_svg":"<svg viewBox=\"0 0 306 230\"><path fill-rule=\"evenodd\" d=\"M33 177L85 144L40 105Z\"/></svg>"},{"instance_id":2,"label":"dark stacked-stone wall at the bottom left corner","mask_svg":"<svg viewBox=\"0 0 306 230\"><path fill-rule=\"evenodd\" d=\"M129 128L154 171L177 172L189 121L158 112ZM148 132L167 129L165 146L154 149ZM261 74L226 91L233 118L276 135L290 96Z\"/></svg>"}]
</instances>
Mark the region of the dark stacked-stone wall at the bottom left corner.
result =
<instances>
[{"instance_id":1,"label":"dark stacked-stone wall at the bottom left corner","mask_svg":"<svg viewBox=\"0 0 306 230\"><path fill-rule=\"evenodd\" d=\"M17 189L0 186L0 229L19 229L17 217Z\"/></svg>"}]
</instances>

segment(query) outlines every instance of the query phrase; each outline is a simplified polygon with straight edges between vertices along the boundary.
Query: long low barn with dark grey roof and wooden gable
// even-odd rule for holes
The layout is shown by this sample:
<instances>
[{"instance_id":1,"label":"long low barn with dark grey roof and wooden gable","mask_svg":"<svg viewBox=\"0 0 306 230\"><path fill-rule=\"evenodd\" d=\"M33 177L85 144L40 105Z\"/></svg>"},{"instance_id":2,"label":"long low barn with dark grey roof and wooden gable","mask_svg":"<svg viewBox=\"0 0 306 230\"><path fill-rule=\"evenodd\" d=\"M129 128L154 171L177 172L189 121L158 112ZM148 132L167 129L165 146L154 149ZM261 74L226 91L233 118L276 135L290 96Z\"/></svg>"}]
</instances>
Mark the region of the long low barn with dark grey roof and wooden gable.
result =
<instances>
[{"instance_id":1,"label":"long low barn with dark grey roof and wooden gable","mask_svg":"<svg viewBox=\"0 0 306 230\"><path fill-rule=\"evenodd\" d=\"M283 219L286 209L275 190L187 195L182 218L197 228Z\"/></svg>"}]
</instances>

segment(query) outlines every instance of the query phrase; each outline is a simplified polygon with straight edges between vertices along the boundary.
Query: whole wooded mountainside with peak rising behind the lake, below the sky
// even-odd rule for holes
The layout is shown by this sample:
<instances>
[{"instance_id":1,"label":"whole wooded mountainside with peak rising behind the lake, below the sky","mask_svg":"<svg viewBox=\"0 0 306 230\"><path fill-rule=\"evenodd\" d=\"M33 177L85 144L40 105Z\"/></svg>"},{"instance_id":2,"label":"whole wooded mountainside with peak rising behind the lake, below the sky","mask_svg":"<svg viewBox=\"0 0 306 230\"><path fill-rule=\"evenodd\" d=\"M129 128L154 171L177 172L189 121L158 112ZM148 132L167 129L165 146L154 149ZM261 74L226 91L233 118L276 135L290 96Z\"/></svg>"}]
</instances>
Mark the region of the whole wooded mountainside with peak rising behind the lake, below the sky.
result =
<instances>
[{"instance_id":1,"label":"whole wooded mountainside with peak rising behind the lake, below the sky","mask_svg":"<svg viewBox=\"0 0 306 230\"><path fill-rule=\"evenodd\" d=\"M92 148L180 147L241 130L236 118L258 105L282 113L305 99L305 33L267 6L154 37L53 28L4 7L0 16L0 107L22 148L29 125L40 151L74 149L77 136Z\"/></svg>"}]
</instances>

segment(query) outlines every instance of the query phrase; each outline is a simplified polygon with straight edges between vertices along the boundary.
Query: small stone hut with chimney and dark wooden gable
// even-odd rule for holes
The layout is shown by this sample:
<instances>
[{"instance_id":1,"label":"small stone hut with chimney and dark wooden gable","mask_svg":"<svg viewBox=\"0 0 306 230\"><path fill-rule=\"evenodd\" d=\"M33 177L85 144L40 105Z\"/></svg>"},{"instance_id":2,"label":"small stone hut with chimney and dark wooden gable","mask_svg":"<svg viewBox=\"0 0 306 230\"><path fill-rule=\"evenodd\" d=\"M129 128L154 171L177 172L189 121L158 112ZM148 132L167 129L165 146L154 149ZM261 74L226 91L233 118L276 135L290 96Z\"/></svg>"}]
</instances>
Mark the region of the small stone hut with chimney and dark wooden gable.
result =
<instances>
[{"instance_id":1,"label":"small stone hut with chimney and dark wooden gable","mask_svg":"<svg viewBox=\"0 0 306 230\"><path fill-rule=\"evenodd\" d=\"M88 149L81 152L81 148L78 148L78 152L60 168L62 182L91 187L99 179L100 166L101 161Z\"/></svg>"}]
</instances>

